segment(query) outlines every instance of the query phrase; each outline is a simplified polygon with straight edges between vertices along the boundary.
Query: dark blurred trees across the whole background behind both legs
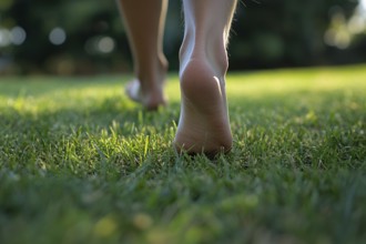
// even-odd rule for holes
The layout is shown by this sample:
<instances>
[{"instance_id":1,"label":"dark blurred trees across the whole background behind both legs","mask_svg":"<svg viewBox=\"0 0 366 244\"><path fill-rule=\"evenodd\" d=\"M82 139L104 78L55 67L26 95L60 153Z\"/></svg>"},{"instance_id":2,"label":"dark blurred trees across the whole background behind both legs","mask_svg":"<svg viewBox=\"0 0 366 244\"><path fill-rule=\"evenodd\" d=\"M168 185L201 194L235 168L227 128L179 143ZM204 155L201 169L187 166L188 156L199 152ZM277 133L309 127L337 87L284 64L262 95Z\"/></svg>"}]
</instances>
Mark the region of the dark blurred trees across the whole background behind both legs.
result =
<instances>
[{"instance_id":1,"label":"dark blurred trees across the whole background behind both legs","mask_svg":"<svg viewBox=\"0 0 366 244\"><path fill-rule=\"evenodd\" d=\"M363 4L362 4L363 1ZM366 1L241 1L232 70L366 62ZM171 0L164 49L172 70L183 34ZM132 70L115 1L1 0L0 73L94 74Z\"/></svg>"}]
</instances>

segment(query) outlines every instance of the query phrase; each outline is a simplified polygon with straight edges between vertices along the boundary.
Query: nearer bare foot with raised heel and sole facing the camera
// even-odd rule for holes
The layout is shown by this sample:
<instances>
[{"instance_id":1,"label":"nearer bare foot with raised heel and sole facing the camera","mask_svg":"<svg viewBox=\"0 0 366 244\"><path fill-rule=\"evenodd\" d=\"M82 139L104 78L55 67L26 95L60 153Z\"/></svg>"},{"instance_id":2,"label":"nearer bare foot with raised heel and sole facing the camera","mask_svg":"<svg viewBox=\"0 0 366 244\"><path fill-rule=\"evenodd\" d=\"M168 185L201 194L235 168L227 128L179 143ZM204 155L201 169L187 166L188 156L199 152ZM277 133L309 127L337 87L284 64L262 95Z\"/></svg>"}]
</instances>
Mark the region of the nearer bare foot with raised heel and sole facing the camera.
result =
<instances>
[{"instance_id":1,"label":"nearer bare foot with raised heel and sole facing the camera","mask_svg":"<svg viewBox=\"0 0 366 244\"><path fill-rule=\"evenodd\" d=\"M179 152L215 155L231 150L223 70L217 72L217 65L202 58L191 57L184 63L180 74L181 116L173 142Z\"/></svg>"}]
</instances>

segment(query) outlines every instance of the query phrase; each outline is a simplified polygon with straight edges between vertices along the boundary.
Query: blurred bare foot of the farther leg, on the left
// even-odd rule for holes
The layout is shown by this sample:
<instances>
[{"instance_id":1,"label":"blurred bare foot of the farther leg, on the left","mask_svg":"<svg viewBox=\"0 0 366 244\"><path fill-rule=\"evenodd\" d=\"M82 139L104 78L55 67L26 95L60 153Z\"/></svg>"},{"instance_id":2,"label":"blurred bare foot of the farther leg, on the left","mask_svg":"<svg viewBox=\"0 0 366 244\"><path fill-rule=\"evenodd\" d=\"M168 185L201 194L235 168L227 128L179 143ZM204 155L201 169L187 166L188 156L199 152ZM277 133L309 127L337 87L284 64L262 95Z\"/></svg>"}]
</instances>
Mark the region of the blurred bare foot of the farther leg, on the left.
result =
<instances>
[{"instance_id":1,"label":"blurred bare foot of the farther leg, on the left","mask_svg":"<svg viewBox=\"0 0 366 244\"><path fill-rule=\"evenodd\" d=\"M143 92L140 81L133 80L125 87L125 93L132 101L142 104L146 110L156 110L159 106L166 105L162 87L163 84L160 88Z\"/></svg>"}]
</instances>

